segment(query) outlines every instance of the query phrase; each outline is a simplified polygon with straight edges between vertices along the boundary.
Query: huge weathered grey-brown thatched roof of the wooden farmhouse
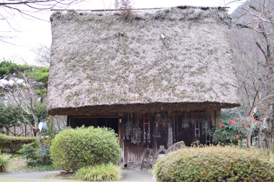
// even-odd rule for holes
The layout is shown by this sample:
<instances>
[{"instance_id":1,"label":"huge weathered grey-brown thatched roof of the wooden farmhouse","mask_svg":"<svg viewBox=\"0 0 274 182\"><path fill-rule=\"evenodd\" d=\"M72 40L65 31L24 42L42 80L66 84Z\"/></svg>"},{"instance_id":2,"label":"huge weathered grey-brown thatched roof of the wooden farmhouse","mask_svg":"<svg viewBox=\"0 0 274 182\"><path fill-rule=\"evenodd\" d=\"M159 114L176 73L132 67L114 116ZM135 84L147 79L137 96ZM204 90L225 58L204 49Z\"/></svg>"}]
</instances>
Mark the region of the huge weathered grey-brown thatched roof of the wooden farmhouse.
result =
<instances>
[{"instance_id":1,"label":"huge weathered grey-brown thatched roof of the wooden farmhouse","mask_svg":"<svg viewBox=\"0 0 274 182\"><path fill-rule=\"evenodd\" d=\"M225 10L170 7L134 17L51 16L50 115L239 106Z\"/></svg>"}]
</instances>

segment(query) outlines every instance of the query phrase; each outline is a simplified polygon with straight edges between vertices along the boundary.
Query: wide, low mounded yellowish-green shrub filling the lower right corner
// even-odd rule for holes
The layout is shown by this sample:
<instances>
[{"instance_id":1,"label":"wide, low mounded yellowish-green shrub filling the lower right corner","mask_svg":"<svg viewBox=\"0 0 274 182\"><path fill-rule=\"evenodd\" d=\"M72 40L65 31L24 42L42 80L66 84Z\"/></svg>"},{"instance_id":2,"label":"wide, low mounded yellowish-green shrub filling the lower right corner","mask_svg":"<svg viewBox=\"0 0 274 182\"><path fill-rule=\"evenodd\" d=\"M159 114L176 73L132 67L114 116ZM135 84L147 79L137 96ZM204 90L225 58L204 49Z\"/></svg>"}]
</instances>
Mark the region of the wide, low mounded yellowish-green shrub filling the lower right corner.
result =
<instances>
[{"instance_id":1,"label":"wide, low mounded yellowish-green shrub filling the lower right corner","mask_svg":"<svg viewBox=\"0 0 274 182\"><path fill-rule=\"evenodd\" d=\"M238 147L186 147L160 158L158 181L274 181L274 163L262 151Z\"/></svg>"}]
</instances>

